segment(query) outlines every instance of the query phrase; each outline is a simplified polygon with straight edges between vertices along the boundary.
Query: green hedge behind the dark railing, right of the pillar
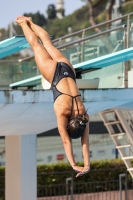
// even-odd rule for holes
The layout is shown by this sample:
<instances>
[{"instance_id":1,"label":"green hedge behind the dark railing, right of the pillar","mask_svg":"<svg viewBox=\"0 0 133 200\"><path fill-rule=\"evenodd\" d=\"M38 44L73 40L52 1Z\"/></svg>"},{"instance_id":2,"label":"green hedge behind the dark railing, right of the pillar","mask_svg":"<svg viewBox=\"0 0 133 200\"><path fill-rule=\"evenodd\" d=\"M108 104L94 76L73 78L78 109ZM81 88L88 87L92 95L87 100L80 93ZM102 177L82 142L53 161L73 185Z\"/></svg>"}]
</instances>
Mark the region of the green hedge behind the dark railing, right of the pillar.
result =
<instances>
[{"instance_id":1,"label":"green hedge behind the dark railing, right of the pillar","mask_svg":"<svg viewBox=\"0 0 133 200\"><path fill-rule=\"evenodd\" d=\"M78 165L83 166L83 163L78 163ZM76 172L72 170L71 166L68 163L59 163L55 165L40 165L38 166L37 171L38 171L38 178L37 178L38 196L41 196L42 194L47 194L47 196L49 195L51 196L54 195L54 193L51 194L51 191L53 191L52 188L56 188L57 192L58 188L61 185L62 185L60 190L61 192L59 191L60 195L66 194L65 181L66 178L68 177L73 177L75 194L78 194L80 192L81 193L96 192L96 190L99 191L99 189L102 189L102 191L118 190L117 186L113 185L113 181L114 180L118 181L119 174L125 174L127 170L125 168L123 161L118 159L110 161L105 160L105 161L91 162L90 172L79 178L75 177ZM101 184L100 183L101 181L105 181L106 183ZM107 184L107 181L110 184ZM80 187L78 187L79 185ZM89 187L89 185L95 185L95 186Z\"/></svg>"}]
</instances>

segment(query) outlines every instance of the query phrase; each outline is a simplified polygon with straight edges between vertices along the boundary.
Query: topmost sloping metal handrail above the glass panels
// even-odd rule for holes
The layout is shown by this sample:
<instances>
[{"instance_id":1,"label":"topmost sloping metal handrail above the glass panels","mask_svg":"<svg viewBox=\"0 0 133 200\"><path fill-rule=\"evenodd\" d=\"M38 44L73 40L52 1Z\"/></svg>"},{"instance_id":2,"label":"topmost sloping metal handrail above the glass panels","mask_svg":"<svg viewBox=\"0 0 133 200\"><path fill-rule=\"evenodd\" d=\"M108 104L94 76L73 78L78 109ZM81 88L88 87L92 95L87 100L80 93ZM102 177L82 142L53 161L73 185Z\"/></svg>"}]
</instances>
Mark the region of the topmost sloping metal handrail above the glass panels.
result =
<instances>
[{"instance_id":1,"label":"topmost sloping metal handrail above the glass panels","mask_svg":"<svg viewBox=\"0 0 133 200\"><path fill-rule=\"evenodd\" d=\"M109 24L109 23L111 23L111 22L115 22L115 21L117 21L117 20L126 18L126 17L128 17L129 15L130 15L130 16L133 15L133 12L131 12L131 13L129 13L129 14L126 14L126 15L123 15L123 16L121 16L121 17L119 17L119 18L116 18L116 19L113 19L113 20L109 20L109 21L107 21L107 22L103 22L103 23L97 24L97 25L95 25L95 26L91 26L91 27L89 27L89 28L86 28L86 29L83 29L83 30L80 30L80 31L77 31L77 32L74 32L74 33L71 33L71 34L68 34L68 35L65 35L65 36L61 37L61 39L66 39L66 38L69 38L69 37L71 37L71 36L75 36L75 35L77 35L77 34L79 34L79 33L82 33L83 31L88 31L88 30L91 30L91 29L94 29L94 28L97 28L97 27L100 27L100 26ZM60 40L60 38L53 40L53 43L54 43L54 42L57 42L58 40Z\"/></svg>"}]
</instances>

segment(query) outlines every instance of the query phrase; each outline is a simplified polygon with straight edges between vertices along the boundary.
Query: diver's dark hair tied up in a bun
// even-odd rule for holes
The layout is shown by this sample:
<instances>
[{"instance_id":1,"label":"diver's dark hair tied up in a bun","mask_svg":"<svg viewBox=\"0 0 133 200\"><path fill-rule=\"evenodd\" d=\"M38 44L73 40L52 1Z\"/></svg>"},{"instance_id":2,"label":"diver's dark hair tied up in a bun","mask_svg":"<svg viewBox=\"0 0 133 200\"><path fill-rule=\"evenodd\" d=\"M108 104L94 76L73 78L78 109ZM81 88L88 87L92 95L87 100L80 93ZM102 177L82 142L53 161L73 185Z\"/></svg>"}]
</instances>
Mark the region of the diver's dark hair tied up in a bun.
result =
<instances>
[{"instance_id":1,"label":"diver's dark hair tied up in a bun","mask_svg":"<svg viewBox=\"0 0 133 200\"><path fill-rule=\"evenodd\" d=\"M88 119L86 119L84 115L70 119L67 126L69 137L72 139L81 137L85 132L87 122Z\"/></svg>"}]
</instances>

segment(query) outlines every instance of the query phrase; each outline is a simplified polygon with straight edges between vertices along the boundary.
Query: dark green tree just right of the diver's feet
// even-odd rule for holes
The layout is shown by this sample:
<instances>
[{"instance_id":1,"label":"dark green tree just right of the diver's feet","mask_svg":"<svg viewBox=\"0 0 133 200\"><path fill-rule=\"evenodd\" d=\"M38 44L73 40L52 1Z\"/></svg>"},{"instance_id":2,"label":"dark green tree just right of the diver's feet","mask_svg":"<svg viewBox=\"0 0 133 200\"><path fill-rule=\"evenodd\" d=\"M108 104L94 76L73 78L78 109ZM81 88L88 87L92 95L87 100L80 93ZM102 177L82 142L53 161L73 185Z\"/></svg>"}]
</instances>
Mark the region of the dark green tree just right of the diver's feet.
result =
<instances>
[{"instance_id":1,"label":"dark green tree just right of the diver's feet","mask_svg":"<svg viewBox=\"0 0 133 200\"><path fill-rule=\"evenodd\" d=\"M32 17L35 24L39 26L44 26L47 24L47 20L43 14L40 14L40 12L37 12L35 14L33 13L24 13L25 16Z\"/></svg>"}]
</instances>

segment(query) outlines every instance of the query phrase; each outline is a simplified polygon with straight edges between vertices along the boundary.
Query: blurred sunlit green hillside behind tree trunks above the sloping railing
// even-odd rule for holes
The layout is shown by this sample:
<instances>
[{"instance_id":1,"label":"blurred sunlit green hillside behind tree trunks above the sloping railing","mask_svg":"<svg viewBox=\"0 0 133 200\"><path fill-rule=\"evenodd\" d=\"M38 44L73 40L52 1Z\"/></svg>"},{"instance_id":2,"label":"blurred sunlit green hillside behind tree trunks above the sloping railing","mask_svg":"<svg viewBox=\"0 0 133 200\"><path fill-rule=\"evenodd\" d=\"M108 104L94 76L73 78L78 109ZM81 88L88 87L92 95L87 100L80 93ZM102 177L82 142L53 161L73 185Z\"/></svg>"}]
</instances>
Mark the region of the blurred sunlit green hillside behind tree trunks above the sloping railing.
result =
<instances>
[{"instance_id":1,"label":"blurred sunlit green hillside behind tree trunks above the sloping railing","mask_svg":"<svg viewBox=\"0 0 133 200\"><path fill-rule=\"evenodd\" d=\"M106 21L106 3L108 0L94 0L94 19L97 24ZM127 14L132 12L133 3L128 1L122 4L122 14ZM50 35L53 35L54 38L58 38L68 34L68 27L72 28L72 32L88 28L90 25L89 22L89 9L88 4L82 8L76 10L73 14L64 17L63 19L53 19L48 21L47 25L44 28L49 32ZM88 34L94 33L94 30L90 31Z\"/></svg>"}]
</instances>

